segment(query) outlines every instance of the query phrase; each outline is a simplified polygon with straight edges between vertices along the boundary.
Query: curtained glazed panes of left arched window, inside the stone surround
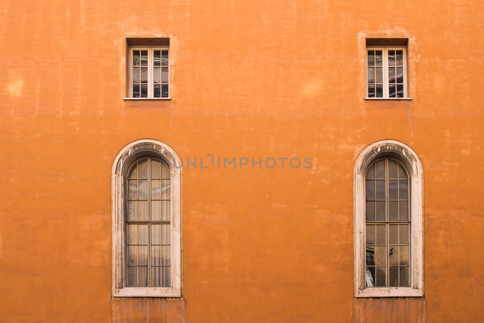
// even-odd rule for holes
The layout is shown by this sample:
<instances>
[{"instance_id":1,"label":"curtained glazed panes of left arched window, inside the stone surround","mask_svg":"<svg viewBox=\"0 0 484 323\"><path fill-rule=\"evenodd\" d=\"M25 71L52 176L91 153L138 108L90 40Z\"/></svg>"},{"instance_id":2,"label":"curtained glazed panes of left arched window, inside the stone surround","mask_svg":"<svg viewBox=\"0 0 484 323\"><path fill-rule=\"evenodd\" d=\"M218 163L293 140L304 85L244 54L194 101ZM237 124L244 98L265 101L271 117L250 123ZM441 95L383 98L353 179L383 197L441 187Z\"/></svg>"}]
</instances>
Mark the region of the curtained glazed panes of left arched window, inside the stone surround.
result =
<instances>
[{"instance_id":1,"label":"curtained glazed panes of left arched window, inside the stone surround","mask_svg":"<svg viewBox=\"0 0 484 323\"><path fill-rule=\"evenodd\" d=\"M128 169L126 265L128 287L171 287L170 169L142 157Z\"/></svg>"}]
</instances>

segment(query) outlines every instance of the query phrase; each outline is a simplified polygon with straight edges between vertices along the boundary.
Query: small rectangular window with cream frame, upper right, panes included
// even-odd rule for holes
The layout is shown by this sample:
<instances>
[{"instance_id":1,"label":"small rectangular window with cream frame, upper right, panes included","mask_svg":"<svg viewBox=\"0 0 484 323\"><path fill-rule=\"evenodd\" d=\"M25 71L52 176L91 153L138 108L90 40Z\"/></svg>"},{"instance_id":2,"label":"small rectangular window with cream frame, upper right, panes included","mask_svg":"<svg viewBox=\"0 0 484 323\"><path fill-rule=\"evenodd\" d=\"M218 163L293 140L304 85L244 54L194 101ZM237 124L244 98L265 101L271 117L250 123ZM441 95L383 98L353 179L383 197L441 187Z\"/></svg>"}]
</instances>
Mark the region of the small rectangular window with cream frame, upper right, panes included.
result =
<instances>
[{"instance_id":1,"label":"small rectangular window with cream frame, upper right, panes included","mask_svg":"<svg viewBox=\"0 0 484 323\"><path fill-rule=\"evenodd\" d=\"M367 47L366 74L366 97L408 97L405 47Z\"/></svg>"}]
</instances>

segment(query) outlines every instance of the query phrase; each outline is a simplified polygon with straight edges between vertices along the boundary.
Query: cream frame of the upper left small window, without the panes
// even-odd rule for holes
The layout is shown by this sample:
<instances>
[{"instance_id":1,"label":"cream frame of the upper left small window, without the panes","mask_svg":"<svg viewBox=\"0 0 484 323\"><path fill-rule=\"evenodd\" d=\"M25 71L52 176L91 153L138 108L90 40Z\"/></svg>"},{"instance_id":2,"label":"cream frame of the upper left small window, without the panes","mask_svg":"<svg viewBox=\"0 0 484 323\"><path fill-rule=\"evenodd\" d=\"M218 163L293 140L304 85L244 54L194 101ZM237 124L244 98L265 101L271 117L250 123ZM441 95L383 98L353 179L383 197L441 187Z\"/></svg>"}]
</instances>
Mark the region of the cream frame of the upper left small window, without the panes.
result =
<instances>
[{"instance_id":1,"label":"cream frame of the upper left small window, without the panes","mask_svg":"<svg viewBox=\"0 0 484 323\"><path fill-rule=\"evenodd\" d=\"M135 98L133 97L133 50L148 50L148 97ZM153 96L153 51L154 50L167 50L168 51L168 97L154 97ZM129 46L128 47L128 98L130 100L169 100L170 97L170 48L169 46ZM160 65L160 67L163 65ZM160 90L161 91L161 90Z\"/></svg>"}]
</instances>

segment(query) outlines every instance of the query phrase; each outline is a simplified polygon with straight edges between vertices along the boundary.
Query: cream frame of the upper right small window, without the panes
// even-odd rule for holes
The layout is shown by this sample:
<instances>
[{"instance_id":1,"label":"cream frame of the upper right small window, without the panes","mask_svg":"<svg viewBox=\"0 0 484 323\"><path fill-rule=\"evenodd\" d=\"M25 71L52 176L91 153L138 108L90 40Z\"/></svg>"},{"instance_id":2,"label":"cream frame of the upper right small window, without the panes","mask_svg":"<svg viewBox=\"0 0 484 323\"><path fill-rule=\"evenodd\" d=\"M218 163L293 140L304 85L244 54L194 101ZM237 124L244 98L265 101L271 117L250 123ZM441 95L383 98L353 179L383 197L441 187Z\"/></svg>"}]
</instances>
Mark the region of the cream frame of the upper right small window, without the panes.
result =
<instances>
[{"instance_id":1,"label":"cream frame of the upper right small window, without the panes","mask_svg":"<svg viewBox=\"0 0 484 323\"><path fill-rule=\"evenodd\" d=\"M388 51L389 50L403 50L403 97L389 97L388 93ZM368 50L381 50L383 55L383 97L368 97ZM407 78L407 46L392 46L392 47L378 47L371 46L366 47L365 50L365 75L366 75L366 97L370 100L402 100L409 99L408 97L408 78ZM396 91L396 89L395 89Z\"/></svg>"}]
</instances>

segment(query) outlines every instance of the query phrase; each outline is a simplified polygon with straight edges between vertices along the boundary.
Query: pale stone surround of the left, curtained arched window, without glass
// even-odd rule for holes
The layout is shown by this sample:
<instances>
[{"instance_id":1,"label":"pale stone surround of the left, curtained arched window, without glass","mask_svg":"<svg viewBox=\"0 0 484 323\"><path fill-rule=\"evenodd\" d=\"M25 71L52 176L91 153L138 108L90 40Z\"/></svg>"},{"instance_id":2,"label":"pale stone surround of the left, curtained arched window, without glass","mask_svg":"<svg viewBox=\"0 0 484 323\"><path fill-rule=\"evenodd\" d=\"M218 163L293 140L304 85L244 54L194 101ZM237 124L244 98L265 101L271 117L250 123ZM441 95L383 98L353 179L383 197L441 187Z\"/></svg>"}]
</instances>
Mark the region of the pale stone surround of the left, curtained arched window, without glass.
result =
<instances>
[{"instance_id":1,"label":"pale stone surround of the left, curtained arched window, without glass","mask_svg":"<svg viewBox=\"0 0 484 323\"><path fill-rule=\"evenodd\" d=\"M171 287L126 287L126 172L131 164L145 156L164 160L170 167L171 210ZM181 177L180 158L166 143L139 139L126 145L114 159L111 170L112 191L112 296L181 297Z\"/></svg>"}]
</instances>

